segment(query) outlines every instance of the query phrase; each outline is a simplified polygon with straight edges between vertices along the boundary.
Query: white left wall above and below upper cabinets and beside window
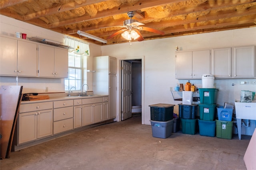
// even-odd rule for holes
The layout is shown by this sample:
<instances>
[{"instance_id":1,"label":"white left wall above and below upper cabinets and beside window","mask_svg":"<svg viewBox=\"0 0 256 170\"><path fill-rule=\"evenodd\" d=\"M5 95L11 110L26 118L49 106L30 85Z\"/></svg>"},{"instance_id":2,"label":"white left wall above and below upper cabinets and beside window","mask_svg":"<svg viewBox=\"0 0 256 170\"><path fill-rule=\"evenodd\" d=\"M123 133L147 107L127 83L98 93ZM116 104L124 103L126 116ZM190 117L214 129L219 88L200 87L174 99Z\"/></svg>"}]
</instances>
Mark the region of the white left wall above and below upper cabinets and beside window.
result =
<instances>
[{"instance_id":1,"label":"white left wall above and below upper cabinets and beside window","mask_svg":"<svg viewBox=\"0 0 256 170\"><path fill-rule=\"evenodd\" d=\"M15 37L15 32L22 32L27 34L28 37L42 37L45 39L50 39L64 43L64 34L57 33L55 31L50 31L42 27L31 25L19 20L8 18L6 16L0 15L0 34L9 35ZM88 70L92 70L92 57L101 55L101 46L90 44L90 57L88 57ZM92 90L92 73L89 72L88 86ZM0 76L1 85L16 85L16 76ZM45 88L48 87L48 92L64 92L64 79L56 78L18 78L18 85L23 86L23 93L44 93Z\"/></svg>"}]
</instances>

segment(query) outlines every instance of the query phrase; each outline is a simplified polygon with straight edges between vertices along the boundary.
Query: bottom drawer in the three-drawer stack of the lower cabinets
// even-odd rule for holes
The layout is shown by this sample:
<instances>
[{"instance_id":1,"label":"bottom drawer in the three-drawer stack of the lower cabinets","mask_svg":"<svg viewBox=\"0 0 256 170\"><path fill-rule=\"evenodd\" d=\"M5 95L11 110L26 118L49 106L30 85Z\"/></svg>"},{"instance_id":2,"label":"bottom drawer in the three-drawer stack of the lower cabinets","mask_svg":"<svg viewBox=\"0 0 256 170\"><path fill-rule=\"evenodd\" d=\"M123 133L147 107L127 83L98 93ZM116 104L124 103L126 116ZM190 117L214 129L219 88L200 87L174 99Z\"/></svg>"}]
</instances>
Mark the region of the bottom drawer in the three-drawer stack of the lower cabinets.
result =
<instances>
[{"instance_id":1,"label":"bottom drawer in the three-drawer stack of the lower cabinets","mask_svg":"<svg viewBox=\"0 0 256 170\"><path fill-rule=\"evenodd\" d=\"M73 129L73 119L65 119L53 123L53 134L61 133Z\"/></svg>"}]
</instances>

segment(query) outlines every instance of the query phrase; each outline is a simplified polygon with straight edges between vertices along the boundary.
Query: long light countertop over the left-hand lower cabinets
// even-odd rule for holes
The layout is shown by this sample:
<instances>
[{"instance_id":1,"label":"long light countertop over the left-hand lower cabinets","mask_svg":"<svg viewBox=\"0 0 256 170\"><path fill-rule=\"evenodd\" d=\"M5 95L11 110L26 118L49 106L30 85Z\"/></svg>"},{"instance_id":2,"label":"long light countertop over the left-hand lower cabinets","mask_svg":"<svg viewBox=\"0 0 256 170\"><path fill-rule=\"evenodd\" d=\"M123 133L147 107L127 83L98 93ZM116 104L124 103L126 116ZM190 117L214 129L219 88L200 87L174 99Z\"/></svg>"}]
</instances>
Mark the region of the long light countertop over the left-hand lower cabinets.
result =
<instances>
[{"instance_id":1,"label":"long light countertop over the left-hand lower cabinets","mask_svg":"<svg viewBox=\"0 0 256 170\"><path fill-rule=\"evenodd\" d=\"M38 95L38 96L40 96L40 95ZM107 97L107 96L108 95L96 95L96 94L93 94L92 96L55 96L55 97L50 97L49 99L45 99L45 100L21 101L21 104L38 103L38 102L52 102L52 101L57 101L57 100L100 98L100 97Z\"/></svg>"}]
</instances>

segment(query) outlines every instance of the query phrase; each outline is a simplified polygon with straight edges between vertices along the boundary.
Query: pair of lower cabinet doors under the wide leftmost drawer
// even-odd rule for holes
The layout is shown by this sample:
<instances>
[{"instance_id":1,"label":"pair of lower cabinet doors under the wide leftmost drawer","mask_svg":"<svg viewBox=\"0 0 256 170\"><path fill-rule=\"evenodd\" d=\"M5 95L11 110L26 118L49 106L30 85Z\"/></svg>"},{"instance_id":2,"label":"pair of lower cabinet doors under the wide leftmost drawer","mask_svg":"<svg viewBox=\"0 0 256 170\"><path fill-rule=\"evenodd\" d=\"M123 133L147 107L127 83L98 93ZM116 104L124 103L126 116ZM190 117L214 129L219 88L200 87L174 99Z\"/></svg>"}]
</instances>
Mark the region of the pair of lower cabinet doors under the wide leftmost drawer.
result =
<instances>
[{"instance_id":1,"label":"pair of lower cabinet doors under the wide leftmost drawer","mask_svg":"<svg viewBox=\"0 0 256 170\"><path fill-rule=\"evenodd\" d=\"M18 144L52 135L52 109L19 114Z\"/></svg>"}]
</instances>

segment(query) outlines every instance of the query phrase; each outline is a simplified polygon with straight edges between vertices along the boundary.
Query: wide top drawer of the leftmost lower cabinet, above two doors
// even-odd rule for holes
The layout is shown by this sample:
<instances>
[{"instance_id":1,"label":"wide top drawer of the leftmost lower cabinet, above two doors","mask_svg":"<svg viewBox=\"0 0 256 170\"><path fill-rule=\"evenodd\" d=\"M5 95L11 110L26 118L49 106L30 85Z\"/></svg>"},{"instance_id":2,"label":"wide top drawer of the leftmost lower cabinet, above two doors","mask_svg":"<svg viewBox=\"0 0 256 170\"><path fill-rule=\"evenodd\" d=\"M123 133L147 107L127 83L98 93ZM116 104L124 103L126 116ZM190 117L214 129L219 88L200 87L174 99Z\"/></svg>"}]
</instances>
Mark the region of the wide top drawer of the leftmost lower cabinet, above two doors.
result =
<instances>
[{"instance_id":1,"label":"wide top drawer of the leftmost lower cabinet, above two doors","mask_svg":"<svg viewBox=\"0 0 256 170\"><path fill-rule=\"evenodd\" d=\"M21 104L20 113L29 112L29 111L38 111L52 109L52 102L39 102L31 104Z\"/></svg>"}]
</instances>

